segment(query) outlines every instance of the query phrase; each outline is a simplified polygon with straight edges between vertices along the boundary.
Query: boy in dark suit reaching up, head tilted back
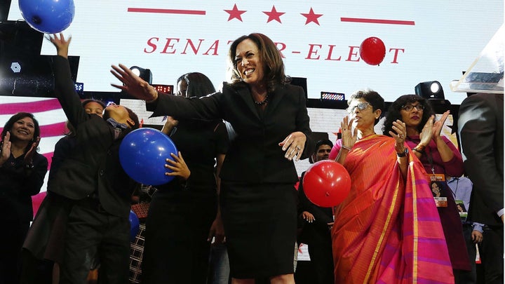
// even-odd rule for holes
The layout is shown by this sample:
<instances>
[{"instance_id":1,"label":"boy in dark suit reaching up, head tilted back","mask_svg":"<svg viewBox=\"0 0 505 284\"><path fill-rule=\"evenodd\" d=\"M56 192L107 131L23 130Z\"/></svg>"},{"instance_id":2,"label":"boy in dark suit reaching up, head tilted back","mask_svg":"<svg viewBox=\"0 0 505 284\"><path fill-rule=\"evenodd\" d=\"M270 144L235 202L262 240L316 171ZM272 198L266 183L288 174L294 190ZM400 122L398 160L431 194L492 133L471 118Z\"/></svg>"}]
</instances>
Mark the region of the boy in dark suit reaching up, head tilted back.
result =
<instances>
[{"instance_id":1,"label":"boy in dark suit reaching up, head tilted back","mask_svg":"<svg viewBox=\"0 0 505 284\"><path fill-rule=\"evenodd\" d=\"M48 191L71 205L65 224L60 283L86 283L95 256L100 281L128 283L130 262L130 196L137 182L119 163L123 137L139 127L130 109L109 104L103 118L86 114L76 94L67 60L70 39L53 34L55 94L76 130L76 147L62 161Z\"/></svg>"}]
</instances>

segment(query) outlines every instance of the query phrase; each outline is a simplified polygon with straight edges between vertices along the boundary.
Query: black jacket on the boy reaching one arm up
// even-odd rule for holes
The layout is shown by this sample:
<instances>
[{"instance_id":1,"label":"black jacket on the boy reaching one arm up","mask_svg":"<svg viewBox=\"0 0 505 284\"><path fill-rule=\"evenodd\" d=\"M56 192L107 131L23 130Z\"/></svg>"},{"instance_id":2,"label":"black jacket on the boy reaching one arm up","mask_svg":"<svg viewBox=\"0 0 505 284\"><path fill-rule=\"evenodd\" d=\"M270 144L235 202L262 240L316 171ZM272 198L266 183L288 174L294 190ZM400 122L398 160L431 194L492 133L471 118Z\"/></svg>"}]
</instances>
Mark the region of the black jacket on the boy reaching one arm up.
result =
<instances>
[{"instance_id":1,"label":"black jacket on the boy reaching one arm up","mask_svg":"<svg viewBox=\"0 0 505 284\"><path fill-rule=\"evenodd\" d=\"M119 163L119 145L128 133L114 139L114 128L100 116L86 114L70 77L67 59L56 56L55 95L76 129L75 146L51 176L48 191L79 200L98 194L102 207L112 215L128 217L130 196L137 185Z\"/></svg>"}]
</instances>

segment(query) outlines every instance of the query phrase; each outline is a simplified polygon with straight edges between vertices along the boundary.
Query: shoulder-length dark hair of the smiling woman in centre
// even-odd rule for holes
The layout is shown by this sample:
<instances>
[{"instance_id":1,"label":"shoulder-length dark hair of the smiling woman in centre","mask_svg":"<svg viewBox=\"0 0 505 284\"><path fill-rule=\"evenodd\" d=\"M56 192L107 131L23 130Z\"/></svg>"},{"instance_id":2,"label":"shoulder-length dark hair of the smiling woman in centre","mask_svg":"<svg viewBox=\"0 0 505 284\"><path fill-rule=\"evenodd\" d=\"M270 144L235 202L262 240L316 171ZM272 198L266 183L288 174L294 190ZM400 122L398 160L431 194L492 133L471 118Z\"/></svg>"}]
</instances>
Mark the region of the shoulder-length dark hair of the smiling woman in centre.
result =
<instances>
[{"instance_id":1,"label":"shoulder-length dark hair of the smiling woman in centre","mask_svg":"<svg viewBox=\"0 0 505 284\"><path fill-rule=\"evenodd\" d=\"M264 81L267 83L267 89L269 92L273 91L278 83L286 83L289 81L284 73L284 62L282 60L281 52L278 50L274 41L264 34L253 33L248 36L241 36L231 43L228 51L228 71L230 83L242 81L237 69L235 55L238 43L241 43L245 39L253 41L260 52L260 60L262 60L264 66Z\"/></svg>"}]
</instances>

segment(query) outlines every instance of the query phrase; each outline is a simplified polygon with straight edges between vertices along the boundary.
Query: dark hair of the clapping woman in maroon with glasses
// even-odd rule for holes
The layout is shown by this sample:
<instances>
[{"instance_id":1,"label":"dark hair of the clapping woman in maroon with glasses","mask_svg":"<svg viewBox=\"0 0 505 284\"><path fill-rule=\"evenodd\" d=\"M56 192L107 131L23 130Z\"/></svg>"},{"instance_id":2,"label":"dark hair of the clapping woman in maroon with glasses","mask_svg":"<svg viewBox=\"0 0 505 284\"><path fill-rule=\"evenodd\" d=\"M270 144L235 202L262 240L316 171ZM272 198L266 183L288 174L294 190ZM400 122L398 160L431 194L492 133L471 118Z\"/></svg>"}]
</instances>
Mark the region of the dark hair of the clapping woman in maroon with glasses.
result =
<instances>
[{"instance_id":1,"label":"dark hair of the clapping woman in maroon with glasses","mask_svg":"<svg viewBox=\"0 0 505 284\"><path fill-rule=\"evenodd\" d=\"M424 97L421 97L419 95L402 95L389 106L386 114L386 120L384 121L384 126L382 127L382 133L384 133L384 135L391 136L389 134L389 131L392 131L393 133L395 132L393 130L393 121L396 121L397 119L401 121L402 116L400 114L400 111L402 107L405 107L405 105L412 104L414 102L419 102L419 104L422 104L424 106L421 123L419 123L417 126L417 131L421 133L422 128L426 124L426 121L428 121L428 119L433 114L435 114L435 111L433 111L433 107L431 107L429 100L426 100Z\"/></svg>"}]
</instances>

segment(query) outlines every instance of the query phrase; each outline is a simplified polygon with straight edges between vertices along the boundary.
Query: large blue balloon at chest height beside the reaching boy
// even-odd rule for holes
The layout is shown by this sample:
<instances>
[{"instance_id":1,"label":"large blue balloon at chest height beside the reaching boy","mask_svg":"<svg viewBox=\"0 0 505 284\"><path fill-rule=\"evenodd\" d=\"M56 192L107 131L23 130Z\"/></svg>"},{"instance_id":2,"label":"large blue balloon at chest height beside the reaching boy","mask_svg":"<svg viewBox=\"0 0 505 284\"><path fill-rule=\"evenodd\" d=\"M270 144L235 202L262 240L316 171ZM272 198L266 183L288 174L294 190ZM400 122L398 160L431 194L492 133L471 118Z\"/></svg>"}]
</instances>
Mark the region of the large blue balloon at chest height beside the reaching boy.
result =
<instances>
[{"instance_id":1,"label":"large blue balloon at chest height beside the reaching boy","mask_svg":"<svg viewBox=\"0 0 505 284\"><path fill-rule=\"evenodd\" d=\"M154 128L139 128L128 133L119 147L119 161L136 182L148 185L166 184L173 176L165 168L166 158L173 160L177 148L170 138Z\"/></svg>"}]
</instances>

